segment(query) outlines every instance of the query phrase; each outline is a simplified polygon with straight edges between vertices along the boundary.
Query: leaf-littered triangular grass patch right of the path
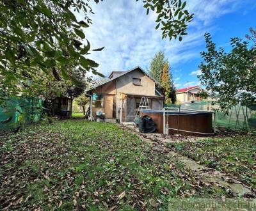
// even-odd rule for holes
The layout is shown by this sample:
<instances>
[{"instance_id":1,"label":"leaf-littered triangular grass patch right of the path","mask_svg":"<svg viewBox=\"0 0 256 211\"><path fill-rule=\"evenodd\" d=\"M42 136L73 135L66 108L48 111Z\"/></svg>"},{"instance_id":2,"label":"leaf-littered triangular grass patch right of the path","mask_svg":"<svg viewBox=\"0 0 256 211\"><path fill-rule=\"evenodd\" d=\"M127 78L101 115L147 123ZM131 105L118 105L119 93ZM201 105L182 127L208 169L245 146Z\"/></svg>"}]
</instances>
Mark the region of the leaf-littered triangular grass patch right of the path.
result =
<instances>
[{"instance_id":1,"label":"leaf-littered triangular grass patch right of the path","mask_svg":"<svg viewBox=\"0 0 256 211\"><path fill-rule=\"evenodd\" d=\"M200 139L196 142L174 143L169 147L256 189L255 136Z\"/></svg>"}]
</instances>

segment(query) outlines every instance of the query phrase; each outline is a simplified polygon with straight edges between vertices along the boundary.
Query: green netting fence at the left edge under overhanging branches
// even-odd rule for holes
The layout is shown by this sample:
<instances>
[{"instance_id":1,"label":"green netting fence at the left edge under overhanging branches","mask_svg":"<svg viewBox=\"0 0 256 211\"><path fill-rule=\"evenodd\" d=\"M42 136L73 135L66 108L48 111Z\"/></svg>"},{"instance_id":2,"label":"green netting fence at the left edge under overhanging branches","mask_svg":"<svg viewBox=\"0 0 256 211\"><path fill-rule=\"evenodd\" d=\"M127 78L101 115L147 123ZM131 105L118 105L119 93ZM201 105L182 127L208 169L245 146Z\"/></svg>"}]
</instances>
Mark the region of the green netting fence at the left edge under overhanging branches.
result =
<instances>
[{"instance_id":1,"label":"green netting fence at the left edge under overhanging branches","mask_svg":"<svg viewBox=\"0 0 256 211\"><path fill-rule=\"evenodd\" d=\"M0 130L16 129L20 125L40 121L43 102L40 99L12 97L0 106Z\"/></svg>"}]
</instances>

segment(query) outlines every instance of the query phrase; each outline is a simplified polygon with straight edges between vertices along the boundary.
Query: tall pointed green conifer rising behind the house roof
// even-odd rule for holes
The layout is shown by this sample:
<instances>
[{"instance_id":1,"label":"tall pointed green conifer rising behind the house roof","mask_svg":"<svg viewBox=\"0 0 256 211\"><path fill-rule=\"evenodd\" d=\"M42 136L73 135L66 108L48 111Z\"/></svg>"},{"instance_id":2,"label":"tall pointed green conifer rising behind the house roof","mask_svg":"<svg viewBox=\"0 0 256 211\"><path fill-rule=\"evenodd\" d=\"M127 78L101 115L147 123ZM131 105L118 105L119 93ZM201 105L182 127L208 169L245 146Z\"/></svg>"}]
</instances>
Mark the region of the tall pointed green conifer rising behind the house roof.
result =
<instances>
[{"instance_id":1,"label":"tall pointed green conifer rising behind the house roof","mask_svg":"<svg viewBox=\"0 0 256 211\"><path fill-rule=\"evenodd\" d=\"M164 58L164 53L159 51L150 63L148 73L161 84L164 64L168 63Z\"/></svg>"}]
</instances>

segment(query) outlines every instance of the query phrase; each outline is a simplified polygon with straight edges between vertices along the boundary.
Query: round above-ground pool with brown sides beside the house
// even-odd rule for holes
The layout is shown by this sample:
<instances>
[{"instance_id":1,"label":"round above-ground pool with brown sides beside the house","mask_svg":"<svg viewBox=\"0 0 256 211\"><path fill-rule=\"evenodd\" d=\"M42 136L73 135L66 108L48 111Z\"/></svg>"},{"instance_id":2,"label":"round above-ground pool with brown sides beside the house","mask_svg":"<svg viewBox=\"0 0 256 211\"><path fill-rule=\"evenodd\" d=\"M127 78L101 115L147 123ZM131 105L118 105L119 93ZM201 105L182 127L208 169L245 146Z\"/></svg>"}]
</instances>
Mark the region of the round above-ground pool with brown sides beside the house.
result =
<instances>
[{"instance_id":1,"label":"round above-ground pool with brown sides beside the house","mask_svg":"<svg viewBox=\"0 0 256 211\"><path fill-rule=\"evenodd\" d=\"M209 136L212 129L212 114L207 111L165 111L165 124L169 134ZM142 110L140 116L150 116L157 125L157 132L164 133L164 118L161 110Z\"/></svg>"}]
</instances>

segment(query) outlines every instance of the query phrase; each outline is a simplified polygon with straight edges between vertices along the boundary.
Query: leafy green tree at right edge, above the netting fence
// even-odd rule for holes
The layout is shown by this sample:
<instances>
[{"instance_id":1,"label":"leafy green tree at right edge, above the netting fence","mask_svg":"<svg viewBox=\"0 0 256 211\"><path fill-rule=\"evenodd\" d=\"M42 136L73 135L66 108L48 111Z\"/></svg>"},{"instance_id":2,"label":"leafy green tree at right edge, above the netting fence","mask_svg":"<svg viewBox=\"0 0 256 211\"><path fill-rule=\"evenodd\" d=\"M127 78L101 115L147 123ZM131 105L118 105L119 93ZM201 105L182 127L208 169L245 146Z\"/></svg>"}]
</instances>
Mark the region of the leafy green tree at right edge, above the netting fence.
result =
<instances>
[{"instance_id":1,"label":"leafy green tree at right edge, above the netting fence","mask_svg":"<svg viewBox=\"0 0 256 211\"><path fill-rule=\"evenodd\" d=\"M256 51L248 42L240 38L231 38L232 50L225 52L221 47L216 50L211 35L205 34L207 51L201 52L204 61L200 64L202 85L209 90L213 104L228 110L238 103L250 105L256 100Z\"/></svg>"}]
</instances>

